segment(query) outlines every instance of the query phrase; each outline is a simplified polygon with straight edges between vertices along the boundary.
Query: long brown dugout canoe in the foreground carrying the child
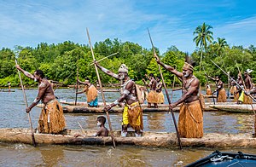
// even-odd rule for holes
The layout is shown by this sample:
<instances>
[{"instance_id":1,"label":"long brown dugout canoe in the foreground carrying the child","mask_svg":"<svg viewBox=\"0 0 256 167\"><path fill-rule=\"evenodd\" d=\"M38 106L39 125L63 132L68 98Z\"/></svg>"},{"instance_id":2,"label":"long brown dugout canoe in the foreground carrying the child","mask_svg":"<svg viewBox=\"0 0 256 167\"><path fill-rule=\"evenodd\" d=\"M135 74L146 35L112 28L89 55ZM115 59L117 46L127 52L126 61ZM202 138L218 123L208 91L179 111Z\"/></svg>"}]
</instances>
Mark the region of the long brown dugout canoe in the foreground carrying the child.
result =
<instances>
[{"instance_id":1,"label":"long brown dugout canoe in the foreground carrying the child","mask_svg":"<svg viewBox=\"0 0 256 167\"><path fill-rule=\"evenodd\" d=\"M34 133L38 144L57 145L112 145L112 139L108 137L90 137L96 130L65 130L61 135ZM32 144L32 135L29 129L0 129L0 141L12 143ZM142 147L178 147L177 134L167 132L143 132L142 137L135 137L130 131L127 137L120 137L120 131L113 131L117 145L133 145ZM204 134L202 138L181 138L183 147L250 147L256 148L256 138L252 134Z\"/></svg>"}]
</instances>

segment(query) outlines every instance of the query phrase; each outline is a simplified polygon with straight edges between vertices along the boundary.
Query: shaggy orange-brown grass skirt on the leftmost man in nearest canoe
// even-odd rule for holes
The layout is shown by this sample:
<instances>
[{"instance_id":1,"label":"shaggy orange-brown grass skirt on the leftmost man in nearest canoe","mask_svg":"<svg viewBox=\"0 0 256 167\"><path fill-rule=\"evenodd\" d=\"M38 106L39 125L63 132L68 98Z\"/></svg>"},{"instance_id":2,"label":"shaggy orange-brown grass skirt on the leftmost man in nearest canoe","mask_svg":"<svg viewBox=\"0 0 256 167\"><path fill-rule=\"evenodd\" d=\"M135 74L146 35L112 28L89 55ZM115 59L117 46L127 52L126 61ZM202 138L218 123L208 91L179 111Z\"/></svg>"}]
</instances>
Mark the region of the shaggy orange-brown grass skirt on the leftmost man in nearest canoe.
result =
<instances>
[{"instance_id":1,"label":"shaggy orange-brown grass skirt on the leftmost man in nearest canoe","mask_svg":"<svg viewBox=\"0 0 256 167\"><path fill-rule=\"evenodd\" d=\"M64 130L65 126L66 121L59 101L52 100L44 105L38 120L39 133L57 134Z\"/></svg>"}]
</instances>

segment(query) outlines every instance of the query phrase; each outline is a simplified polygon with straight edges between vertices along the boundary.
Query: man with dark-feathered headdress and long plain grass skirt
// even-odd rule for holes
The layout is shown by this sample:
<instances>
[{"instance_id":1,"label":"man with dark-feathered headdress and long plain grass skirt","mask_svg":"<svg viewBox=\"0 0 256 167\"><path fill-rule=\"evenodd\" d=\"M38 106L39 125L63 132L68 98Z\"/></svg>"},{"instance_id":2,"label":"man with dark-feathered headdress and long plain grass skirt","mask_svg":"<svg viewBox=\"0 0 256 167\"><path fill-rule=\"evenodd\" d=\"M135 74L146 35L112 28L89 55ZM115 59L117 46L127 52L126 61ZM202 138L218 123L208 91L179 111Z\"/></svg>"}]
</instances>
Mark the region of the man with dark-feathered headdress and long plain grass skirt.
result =
<instances>
[{"instance_id":1,"label":"man with dark-feathered headdress and long plain grass skirt","mask_svg":"<svg viewBox=\"0 0 256 167\"><path fill-rule=\"evenodd\" d=\"M183 138L201 138L203 136L203 111L198 96L200 82L193 75L193 66L185 62L183 72L177 72L172 66L161 62L157 55L154 55L154 57L158 64L175 74L183 83L183 96L170 105L172 109L182 103L177 124L180 136Z\"/></svg>"}]
</instances>

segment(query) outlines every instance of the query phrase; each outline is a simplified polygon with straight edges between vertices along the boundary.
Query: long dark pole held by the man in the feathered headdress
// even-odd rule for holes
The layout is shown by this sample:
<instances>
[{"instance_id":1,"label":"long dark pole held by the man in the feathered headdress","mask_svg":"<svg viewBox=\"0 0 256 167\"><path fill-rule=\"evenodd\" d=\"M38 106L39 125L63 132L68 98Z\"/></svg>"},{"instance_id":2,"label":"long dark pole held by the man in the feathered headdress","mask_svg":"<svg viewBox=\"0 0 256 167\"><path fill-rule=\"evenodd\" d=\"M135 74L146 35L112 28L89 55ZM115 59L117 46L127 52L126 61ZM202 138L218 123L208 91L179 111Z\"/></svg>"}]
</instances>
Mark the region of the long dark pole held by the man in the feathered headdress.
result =
<instances>
[{"instance_id":1,"label":"long dark pole held by the man in the feathered headdress","mask_svg":"<svg viewBox=\"0 0 256 167\"><path fill-rule=\"evenodd\" d=\"M150 36L149 30L148 30L148 36L149 36L150 42L151 42L151 44L152 44L152 49L154 50L154 55L156 55L156 52L155 52L155 49L154 49L154 44L153 44L152 38L151 38L151 36ZM165 88L165 90L166 90L166 96L167 96L168 103L169 103L169 105L171 105L171 100L170 100L168 91L167 91L167 89L166 89L165 79L164 79L163 74L162 74L162 71L161 71L161 69L160 69L160 65L159 65L159 64L157 64L157 65L158 65L158 69L159 69L159 72L160 72L160 76L161 76L162 81L163 81L163 84L164 84L164 88ZM170 111L172 112L173 124L174 124L174 126L175 126L175 130L176 130L176 133L177 133L177 142L178 142L179 148L182 149L182 144L181 144L181 141L180 141L179 132L178 132L178 130L177 130L176 119L175 119L175 117L174 117L174 113L173 113L172 109L169 108L169 112L170 112Z\"/></svg>"}]
</instances>

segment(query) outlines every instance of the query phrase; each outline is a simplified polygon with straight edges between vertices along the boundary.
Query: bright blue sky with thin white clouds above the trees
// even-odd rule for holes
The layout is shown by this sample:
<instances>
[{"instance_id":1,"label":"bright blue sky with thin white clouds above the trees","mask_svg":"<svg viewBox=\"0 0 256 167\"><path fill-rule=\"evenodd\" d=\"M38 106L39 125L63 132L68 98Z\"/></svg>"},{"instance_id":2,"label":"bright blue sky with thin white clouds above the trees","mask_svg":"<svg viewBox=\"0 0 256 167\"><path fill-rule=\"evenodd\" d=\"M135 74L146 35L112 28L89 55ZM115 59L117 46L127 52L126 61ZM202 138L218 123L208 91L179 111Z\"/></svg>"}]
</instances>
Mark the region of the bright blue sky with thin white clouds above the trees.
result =
<instances>
[{"instance_id":1,"label":"bright blue sky with thin white clouds above the trees","mask_svg":"<svg viewBox=\"0 0 256 167\"><path fill-rule=\"evenodd\" d=\"M193 52L193 32L206 22L213 37L230 46L256 46L256 3L253 0L0 0L0 49L15 45L73 41L88 44L106 38L138 43L150 49L149 28L155 47L163 53L175 45Z\"/></svg>"}]
</instances>

